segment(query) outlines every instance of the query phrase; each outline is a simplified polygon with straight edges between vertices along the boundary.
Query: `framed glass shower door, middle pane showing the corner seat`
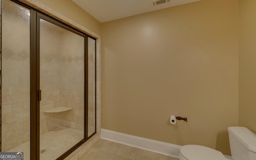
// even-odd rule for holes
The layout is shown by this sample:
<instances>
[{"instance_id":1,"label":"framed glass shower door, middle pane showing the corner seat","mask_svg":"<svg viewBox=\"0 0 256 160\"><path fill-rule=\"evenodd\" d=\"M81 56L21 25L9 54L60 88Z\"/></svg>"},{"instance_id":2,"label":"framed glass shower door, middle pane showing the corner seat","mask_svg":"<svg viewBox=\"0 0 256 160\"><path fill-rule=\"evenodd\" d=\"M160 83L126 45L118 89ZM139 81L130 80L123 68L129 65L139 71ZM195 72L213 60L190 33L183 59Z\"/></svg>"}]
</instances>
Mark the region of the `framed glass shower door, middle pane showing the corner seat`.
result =
<instances>
[{"instance_id":1,"label":"framed glass shower door, middle pane showing the corner seat","mask_svg":"<svg viewBox=\"0 0 256 160\"><path fill-rule=\"evenodd\" d=\"M84 40L40 18L41 160L55 160L85 138Z\"/></svg>"}]
</instances>

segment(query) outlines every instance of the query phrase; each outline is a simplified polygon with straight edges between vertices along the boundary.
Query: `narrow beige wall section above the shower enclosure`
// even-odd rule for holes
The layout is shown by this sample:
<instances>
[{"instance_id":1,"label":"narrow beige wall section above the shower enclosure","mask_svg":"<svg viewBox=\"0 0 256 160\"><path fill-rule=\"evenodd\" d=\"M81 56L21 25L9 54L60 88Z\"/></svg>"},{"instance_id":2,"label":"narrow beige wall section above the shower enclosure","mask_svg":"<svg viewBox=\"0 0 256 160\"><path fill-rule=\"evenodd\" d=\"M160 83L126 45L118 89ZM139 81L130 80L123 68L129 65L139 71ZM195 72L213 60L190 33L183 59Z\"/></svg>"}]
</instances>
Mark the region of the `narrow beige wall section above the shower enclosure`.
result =
<instances>
[{"instance_id":1,"label":"narrow beige wall section above the shower enclosure","mask_svg":"<svg viewBox=\"0 0 256 160\"><path fill-rule=\"evenodd\" d=\"M38 0L39 2L70 18L74 22L100 34L100 22L76 5L72 0Z\"/></svg>"}]
</instances>

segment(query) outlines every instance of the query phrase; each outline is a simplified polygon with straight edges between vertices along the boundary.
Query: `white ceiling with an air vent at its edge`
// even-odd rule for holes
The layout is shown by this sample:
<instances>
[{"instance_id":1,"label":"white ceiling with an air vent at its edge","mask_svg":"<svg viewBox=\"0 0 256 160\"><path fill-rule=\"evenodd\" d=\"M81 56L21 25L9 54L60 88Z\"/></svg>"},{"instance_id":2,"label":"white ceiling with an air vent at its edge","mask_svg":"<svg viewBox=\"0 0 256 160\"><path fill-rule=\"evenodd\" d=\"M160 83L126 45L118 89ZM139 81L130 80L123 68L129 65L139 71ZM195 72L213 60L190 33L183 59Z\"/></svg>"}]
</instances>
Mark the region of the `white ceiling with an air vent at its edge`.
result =
<instances>
[{"instance_id":1,"label":"white ceiling with an air vent at its edge","mask_svg":"<svg viewBox=\"0 0 256 160\"><path fill-rule=\"evenodd\" d=\"M100 22L107 22L137 14L196 2L199 0L170 0L152 6L152 0L72 0Z\"/></svg>"}]
</instances>

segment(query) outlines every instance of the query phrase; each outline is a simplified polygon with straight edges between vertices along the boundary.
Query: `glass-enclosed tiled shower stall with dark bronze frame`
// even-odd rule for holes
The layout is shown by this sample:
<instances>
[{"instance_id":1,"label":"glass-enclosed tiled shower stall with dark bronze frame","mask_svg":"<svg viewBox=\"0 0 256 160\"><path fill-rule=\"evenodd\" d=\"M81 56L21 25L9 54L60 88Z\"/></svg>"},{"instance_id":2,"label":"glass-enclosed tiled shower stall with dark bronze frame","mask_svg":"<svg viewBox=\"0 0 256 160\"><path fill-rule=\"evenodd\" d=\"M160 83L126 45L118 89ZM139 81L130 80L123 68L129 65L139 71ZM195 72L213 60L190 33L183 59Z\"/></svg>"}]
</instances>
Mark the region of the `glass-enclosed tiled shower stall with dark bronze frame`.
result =
<instances>
[{"instance_id":1,"label":"glass-enclosed tiled shower stall with dark bronze frame","mask_svg":"<svg viewBox=\"0 0 256 160\"><path fill-rule=\"evenodd\" d=\"M2 0L1 152L64 159L96 133L96 39Z\"/></svg>"}]
</instances>

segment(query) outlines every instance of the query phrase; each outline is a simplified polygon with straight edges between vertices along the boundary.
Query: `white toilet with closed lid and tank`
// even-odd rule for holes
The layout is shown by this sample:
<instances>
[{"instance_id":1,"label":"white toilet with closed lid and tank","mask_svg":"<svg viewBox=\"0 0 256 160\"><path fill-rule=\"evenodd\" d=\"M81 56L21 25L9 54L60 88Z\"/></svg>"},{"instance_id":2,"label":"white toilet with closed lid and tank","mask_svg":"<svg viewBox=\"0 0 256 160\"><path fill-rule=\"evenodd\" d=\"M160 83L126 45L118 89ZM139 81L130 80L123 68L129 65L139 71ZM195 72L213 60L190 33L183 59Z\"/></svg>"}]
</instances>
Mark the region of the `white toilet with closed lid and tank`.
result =
<instances>
[{"instance_id":1,"label":"white toilet with closed lid and tank","mask_svg":"<svg viewBox=\"0 0 256 160\"><path fill-rule=\"evenodd\" d=\"M233 160L256 160L256 134L245 127L228 127ZM212 148L186 145L180 148L180 160L228 160Z\"/></svg>"}]
</instances>

